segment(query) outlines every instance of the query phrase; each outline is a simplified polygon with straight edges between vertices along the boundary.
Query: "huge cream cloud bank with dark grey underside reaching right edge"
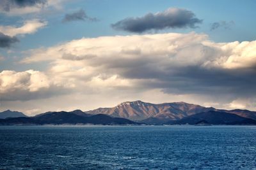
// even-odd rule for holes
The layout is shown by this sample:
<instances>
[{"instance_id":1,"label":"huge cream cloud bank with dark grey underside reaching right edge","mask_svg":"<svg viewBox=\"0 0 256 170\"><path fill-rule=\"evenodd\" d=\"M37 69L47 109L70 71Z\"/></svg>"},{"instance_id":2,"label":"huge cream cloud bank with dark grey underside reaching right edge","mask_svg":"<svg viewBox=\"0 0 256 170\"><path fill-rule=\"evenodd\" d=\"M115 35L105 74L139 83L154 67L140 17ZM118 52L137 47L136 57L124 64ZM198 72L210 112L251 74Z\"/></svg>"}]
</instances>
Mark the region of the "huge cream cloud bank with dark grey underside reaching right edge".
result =
<instances>
[{"instance_id":1,"label":"huge cream cloud bank with dark grey underside reaching right edge","mask_svg":"<svg viewBox=\"0 0 256 170\"><path fill-rule=\"evenodd\" d=\"M194 32L109 36L31 50L22 62L48 61L54 77L76 87L111 88L109 81L122 80L118 88L245 97L256 92L255 48L256 41L214 43Z\"/></svg>"}]
</instances>

